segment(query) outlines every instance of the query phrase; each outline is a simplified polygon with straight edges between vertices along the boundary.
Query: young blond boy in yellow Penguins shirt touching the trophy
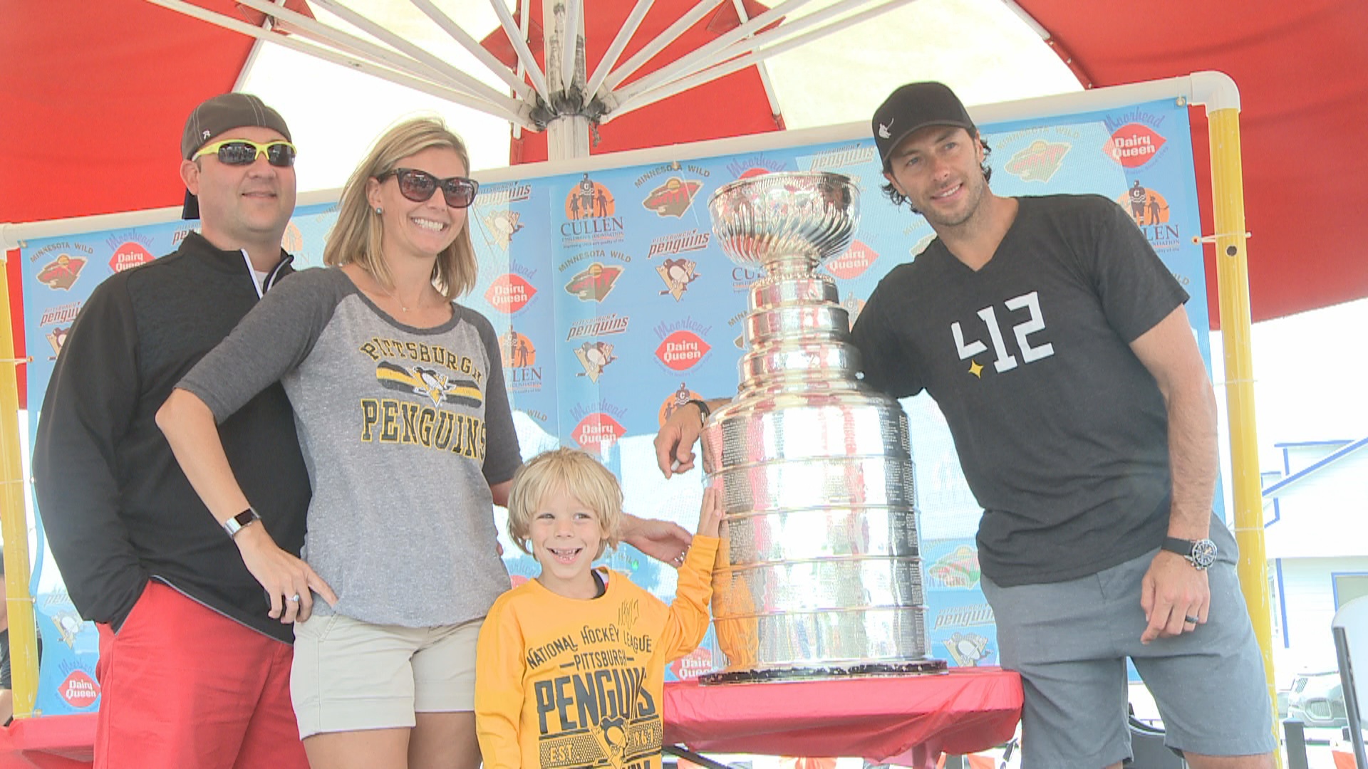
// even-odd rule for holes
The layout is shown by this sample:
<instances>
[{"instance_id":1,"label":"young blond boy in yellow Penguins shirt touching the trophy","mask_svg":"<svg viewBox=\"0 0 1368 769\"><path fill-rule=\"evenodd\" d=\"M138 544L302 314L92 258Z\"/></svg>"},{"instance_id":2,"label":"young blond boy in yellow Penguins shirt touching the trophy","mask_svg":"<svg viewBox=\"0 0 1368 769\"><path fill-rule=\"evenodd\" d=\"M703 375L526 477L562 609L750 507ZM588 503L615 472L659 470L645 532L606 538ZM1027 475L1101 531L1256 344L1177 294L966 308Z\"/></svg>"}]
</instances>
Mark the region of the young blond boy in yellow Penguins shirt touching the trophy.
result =
<instances>
[{"instance_id":1,"label":"young blond boy in yellow Penguins shirt touching the trophy","mask_svg":"<svg viewBox=\"0 0 1368 769\"><path fill-rule=\"evenodd\" d=\"M665 665L707 632L722 505L703 494L674 603L591 568L617 547L622 490L594 457L538 454L513 475L509 534L542 565L480 629L475 716L486 769L659 769Z\"/></svg>"}]
</instances>

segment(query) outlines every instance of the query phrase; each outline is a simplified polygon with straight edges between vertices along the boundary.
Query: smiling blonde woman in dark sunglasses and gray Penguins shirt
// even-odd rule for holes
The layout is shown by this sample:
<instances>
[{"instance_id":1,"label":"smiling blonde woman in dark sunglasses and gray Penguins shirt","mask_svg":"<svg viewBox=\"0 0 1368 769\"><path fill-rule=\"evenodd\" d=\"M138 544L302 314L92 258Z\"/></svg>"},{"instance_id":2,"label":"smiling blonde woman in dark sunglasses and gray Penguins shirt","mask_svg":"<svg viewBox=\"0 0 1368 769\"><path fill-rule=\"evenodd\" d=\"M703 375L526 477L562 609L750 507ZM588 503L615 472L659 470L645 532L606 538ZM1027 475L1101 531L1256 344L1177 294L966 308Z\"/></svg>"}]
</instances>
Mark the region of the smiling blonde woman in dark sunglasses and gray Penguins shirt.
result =
<instances>
[{"instance_id":1,"label":"smiling blonde woman in dark sunglasses and gray Penguins shirt","mask_svg":"<svg viewBox=\"0 0 1368 769\"><path fill-rule=\"evenodd\" d=\"M315 768L480 762L475 642L509 586L491 505L520 454L494 328L454 301L476 279L468 170L439 120L386 133L342 192L330 267L267 294L157 413L269 616L295 623ZM308 565L256 519L215 426L276 380L313 486Z\"/></svg>"}]
</instances>

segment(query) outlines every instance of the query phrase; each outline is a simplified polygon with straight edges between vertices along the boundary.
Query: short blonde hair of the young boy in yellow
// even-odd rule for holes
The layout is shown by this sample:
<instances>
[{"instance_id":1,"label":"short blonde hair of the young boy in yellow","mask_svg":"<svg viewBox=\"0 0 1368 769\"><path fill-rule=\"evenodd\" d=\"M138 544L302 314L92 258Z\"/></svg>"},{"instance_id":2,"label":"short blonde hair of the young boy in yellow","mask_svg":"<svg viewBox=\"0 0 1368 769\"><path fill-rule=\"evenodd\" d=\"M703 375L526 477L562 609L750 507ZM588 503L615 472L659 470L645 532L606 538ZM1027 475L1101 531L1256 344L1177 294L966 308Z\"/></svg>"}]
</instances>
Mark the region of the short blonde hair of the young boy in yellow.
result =
<instances>
[{"instance_id":1,"label":"short blonde hair of the young boy in yellow","mask_svg":"<svg viewBox=\"0 0 1368 769\"><path fill-rule=\"evenodd\" d=\"M532 457L513 473L509 491L509 536L524 553L532 554L528 536L532 516L547 494L564 490L594 510L603 532L598 558L606 547L617 549L622 532L622 487L598 460L575 449L551 449Z\"/></svg>"}]
</instances>

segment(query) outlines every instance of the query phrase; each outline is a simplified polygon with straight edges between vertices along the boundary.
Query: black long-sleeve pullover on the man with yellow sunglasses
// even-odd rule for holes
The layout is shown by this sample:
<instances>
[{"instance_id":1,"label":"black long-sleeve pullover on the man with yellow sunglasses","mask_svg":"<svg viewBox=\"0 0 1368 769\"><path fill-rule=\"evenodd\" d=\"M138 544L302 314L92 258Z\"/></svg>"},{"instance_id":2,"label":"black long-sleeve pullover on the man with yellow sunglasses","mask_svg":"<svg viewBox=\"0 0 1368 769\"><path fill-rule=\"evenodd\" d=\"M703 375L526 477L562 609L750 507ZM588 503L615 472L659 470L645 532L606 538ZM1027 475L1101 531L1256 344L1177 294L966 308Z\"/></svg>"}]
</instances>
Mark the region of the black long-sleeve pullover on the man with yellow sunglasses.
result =
<instances>
[{"instance_id":1,"label":"black long-sleeve pullover on the man with yellow sunglasses","mask_svg":"<svg viewBox=\"0 0 1368 769\"><path fill-rule=\"evenodd\" d=\"M290 261L282 252L265 287ZM174 253L101 283L77 316L48 383L33 475L52 556L85 618L118 628L156 579L291 640L155 421L176 382L257 300L242 252L192 233ZM298 554L309 479L285 390L268 387L219 434L261 523Z\"/></svg>"}]
</instances>

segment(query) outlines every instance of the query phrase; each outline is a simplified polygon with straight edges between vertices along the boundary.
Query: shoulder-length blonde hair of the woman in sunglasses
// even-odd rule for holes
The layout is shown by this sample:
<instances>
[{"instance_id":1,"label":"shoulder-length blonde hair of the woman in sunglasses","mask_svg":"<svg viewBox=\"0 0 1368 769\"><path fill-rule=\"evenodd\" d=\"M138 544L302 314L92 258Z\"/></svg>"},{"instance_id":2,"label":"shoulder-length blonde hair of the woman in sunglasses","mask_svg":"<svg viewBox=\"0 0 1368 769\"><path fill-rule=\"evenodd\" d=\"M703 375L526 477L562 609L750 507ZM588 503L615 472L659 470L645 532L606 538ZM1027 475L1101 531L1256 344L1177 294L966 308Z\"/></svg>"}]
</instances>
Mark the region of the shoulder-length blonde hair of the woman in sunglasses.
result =
<instances>
[{"instance_id":1,"label":"shoulder-length blonde hair of the woman in sunglasses","mask_svg":"<svg viewBox=\"0 0 1368 769\"><path fill-rule=\"evenodd\" d=\"M405 120L384 133L367 153L352 178L342 187L338 201L338 219L328 234L323 249L323 264L341 267L357 263L382 286L394 287L390 270L380 255L384 223L371 211L367 201L367 182L394 168L394 164L410 155L434 146L456 151L466 172L471 168L471 155L461 137L451 133L439 118L415 118ZM436 190L432 194L442 194ZM465 218L456 241L436 257L432 265L432 285L447 300L454 300L475 287L479 267L475 264L475 248L471 245L471 218Z\"/></svg>"}]
</instances>

